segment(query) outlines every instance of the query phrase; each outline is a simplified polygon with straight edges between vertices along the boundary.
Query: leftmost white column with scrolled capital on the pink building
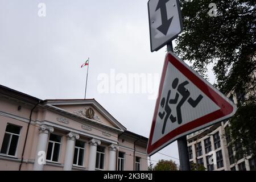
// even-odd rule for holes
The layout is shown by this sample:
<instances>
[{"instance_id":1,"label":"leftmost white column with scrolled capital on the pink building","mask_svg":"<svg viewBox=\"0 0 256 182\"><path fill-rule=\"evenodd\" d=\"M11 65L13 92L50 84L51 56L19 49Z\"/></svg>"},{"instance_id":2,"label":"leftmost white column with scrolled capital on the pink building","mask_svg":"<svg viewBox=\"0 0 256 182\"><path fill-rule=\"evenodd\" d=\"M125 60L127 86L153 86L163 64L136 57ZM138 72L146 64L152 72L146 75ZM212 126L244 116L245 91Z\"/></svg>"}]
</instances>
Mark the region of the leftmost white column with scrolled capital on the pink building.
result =
<instances>
[{"instance_id":1,"label":"leftmost white column with scrolled capital on the pink building","mask_svg":"<svg viewBox=\"0 0 256 182\"><path fill-rule=\"evenodd\" d=\"M46 164L46 147L48 142L49 132L53 132L54 129L48 125L40 125L40 133L38 138L38 146L36 147L36 156L34 162L34 171L42 171L44 164Z\"/></svg>"}]
</instances>

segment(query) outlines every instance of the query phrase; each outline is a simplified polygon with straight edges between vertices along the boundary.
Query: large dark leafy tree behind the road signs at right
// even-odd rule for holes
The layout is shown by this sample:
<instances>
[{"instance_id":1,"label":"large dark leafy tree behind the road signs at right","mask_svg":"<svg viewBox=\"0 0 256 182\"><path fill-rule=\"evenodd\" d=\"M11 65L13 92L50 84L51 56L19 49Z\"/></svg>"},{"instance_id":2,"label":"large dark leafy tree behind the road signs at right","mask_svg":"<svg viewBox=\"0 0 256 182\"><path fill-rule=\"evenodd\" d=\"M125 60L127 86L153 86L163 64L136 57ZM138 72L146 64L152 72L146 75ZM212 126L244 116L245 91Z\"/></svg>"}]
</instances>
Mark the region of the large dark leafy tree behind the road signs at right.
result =
<instances>
[{"instance_id":1,"label":"large dark leafy tree behind the road signs at right","mask_svg":"<svg viewBox=\"0 0 256 182\"><path fill-rule=\"evenodd\" d=\"M230 120L234 143L256 154L256 5L252 0L216 0L217 16L209 16L212 0L180 0L183 33L174 52L207 78L213 65L214 84L222 93L238 98ZM245 97L246 96L246 97Z\"/></svg>"}]
</instances>

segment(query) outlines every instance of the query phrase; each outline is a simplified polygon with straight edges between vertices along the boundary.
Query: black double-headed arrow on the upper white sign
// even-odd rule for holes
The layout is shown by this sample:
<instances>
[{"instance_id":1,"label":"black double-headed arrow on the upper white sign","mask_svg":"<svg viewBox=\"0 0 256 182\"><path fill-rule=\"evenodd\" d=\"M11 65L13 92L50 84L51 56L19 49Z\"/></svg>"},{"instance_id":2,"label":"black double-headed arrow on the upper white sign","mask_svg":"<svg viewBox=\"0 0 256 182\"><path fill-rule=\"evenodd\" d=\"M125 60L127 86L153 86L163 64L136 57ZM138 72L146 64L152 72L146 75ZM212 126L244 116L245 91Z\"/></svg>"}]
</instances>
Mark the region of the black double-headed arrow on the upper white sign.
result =
<instances>
[{"instance_id":1,"label":"black double-headed arrow on the upper white sign","mask_svg":"<svg viewBox=\"0 0 256 182\"><path fill-rule=\"evenodd\" d=\"M172 22L172 18L174 18L174 16L172 16L170 19L167 19L166 3L168 1L169 0L159 0L158 5L156 6L156 9L155 9L155 11L158 9L160 9L160 11L161 11L162 24L157 29L160 32L162 32L164 35L167 34L170 24Z\"/></svg>"}]
</instances>

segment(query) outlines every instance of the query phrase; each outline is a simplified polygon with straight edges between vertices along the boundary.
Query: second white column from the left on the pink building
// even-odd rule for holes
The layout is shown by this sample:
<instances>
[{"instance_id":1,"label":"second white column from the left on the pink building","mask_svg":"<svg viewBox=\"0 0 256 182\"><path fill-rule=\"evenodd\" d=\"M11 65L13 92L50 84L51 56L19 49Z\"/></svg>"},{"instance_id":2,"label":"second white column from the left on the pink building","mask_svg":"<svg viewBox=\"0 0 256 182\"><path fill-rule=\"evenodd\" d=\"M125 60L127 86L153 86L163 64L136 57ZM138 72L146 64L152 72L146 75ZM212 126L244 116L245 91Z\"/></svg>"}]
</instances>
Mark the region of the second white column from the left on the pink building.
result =
<instances>
[{"instance_id":1,"label":"second white column from the left on the pink building","mask_svg":"<svg viewBox=\"0 0 256 182\"><path fill-rule=\"evenodd\" d=\"M67 135L67 137L68 137L68 140L67 140L63 170L71 171L73 159L74 159L75 142L76 142L76 139L79 139L79 134L71 132Z\"/></svg>"}]
</instances>

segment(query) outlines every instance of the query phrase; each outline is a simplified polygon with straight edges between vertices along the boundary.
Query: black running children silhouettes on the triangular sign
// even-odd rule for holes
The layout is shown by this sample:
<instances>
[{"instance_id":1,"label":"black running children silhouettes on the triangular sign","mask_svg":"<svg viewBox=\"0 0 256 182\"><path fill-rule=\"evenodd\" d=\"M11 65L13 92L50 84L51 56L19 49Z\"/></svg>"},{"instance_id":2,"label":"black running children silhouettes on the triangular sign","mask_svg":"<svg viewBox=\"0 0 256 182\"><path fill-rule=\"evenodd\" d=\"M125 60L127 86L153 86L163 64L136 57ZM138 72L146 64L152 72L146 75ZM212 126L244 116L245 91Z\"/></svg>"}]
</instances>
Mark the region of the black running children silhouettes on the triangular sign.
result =
<instances>
[{"instance_id":1,"label":"black running children silhouettes on the triangular sign","mask_svg":"<svg viewBox=\"0 0 256 182\"><path fill-rule=\"evenodd\" d=\"M167 94L167 98L163 97L160 103L160 106L164 108L164 111L163 113L159 112L158 115L161 119L163 119L165 116L164 122L163 122L162 134L164 134L164 130L166 129L166 123L169 118L172 123L176 121L179 124L182 123L181 106L183 106L184 102L187 101L187 99L188 99L188 104L195 108L203 98L201 94L196 98L196 100L193 100L191 97L189 97L190 92L188 91L187 88L185 88L185 85L189 84L188 81L184 81L179 85L178 84L179 84L179 79L175 78L174 81L172 82L172 88L174 90L177 88L175 97L170 99L171 90L169 90ZM177 101L179 100L180 96L181 96L181 99L177 104ZM174 115L171 114L172 110L169 104L177 104L176 105L177 117L174 117Z\"/></svg>"}]
</instances>

